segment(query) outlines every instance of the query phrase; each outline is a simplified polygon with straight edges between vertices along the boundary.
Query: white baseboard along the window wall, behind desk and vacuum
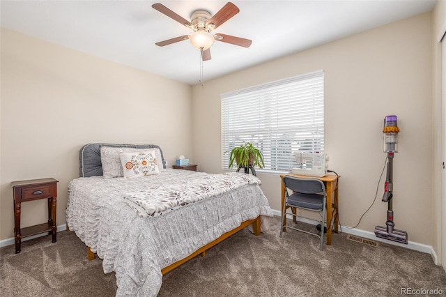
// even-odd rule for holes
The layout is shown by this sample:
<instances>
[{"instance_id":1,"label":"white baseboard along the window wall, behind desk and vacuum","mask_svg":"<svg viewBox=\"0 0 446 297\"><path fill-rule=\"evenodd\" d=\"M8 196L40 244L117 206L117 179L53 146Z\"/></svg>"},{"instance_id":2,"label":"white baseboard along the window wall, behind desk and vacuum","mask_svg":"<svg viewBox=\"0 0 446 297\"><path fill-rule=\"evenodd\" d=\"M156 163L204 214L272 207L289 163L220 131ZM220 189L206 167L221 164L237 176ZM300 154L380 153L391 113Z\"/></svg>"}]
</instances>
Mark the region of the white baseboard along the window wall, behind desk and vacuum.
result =
<instances>
[{"instance_id":1,"label":"white baseboard along the window wall, behind desk and vacuum","mask_svg":"<svg viewBox=\"0 0 446 297\"><path fill-rule=\"evenodd\" d=\"M278 215L279 217L282 216L282 213L280 211L273 210L272 213L274 213L274 215ZM288 218L288 216L287 216L287 218ZM290 219L292 218L291 215L289 215L289 218ZM301 222L305 222L307 224L314 224L314 225L318 224L318 222L316 222L314 220L307 220L305 218L298 218L298 220L301 221ZM346 228L344 226L339 226L339 230L342 233L352 234L352 235L355 235L355 236L360 236L362 238L367 238L367 239L370 239L372 241L378 241L378 242L381 242L381 243L387 243L389 245L397 245L397 246L399 246L401 248L408 248L409 250L417 250L419 252L425 252L425 253L431 255L433 263L435 263L436 265L440 265L438 263L437 254L436 254L435 250L433 250L431 245L424 245L423 243L415 243L414 241L408 241L408 244L405 245L403 243L396 243L394 241L388 241L388 240L386 240L384 238L376 237L374 232L364 231L364 230L361 230L361 229L354 229L354 228L351 229L351 228Z\"/></svg>"}]
</instances>

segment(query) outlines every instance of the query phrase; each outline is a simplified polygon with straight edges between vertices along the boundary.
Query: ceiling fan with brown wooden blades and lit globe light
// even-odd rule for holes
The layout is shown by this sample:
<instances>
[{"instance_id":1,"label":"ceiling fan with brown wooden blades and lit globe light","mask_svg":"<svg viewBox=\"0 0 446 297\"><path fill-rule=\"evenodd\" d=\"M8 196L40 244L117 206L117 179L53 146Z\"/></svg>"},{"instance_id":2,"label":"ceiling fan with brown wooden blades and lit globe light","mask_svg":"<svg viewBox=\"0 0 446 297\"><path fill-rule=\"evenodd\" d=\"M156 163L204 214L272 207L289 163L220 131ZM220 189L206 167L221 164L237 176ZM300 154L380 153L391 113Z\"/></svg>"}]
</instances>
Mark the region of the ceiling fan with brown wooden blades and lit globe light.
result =
<instances>
[{"instance_id":1,"label":"ceiling fan with brown wooden blades and lit globe light","mask_svg":"<svg viewBox=\"0 0 446 297\"><path fill-rule=\"evenodd\" d=\"M231 2L226 3L226 5L218 10L215 15L212 15L207 10L203 9L194 10L190 17L190 22L185 20L180 15L174 13L174 11L170 10L161 3L155 3L152 7L158 10L160 13L167 15L171 19L176 20L176 22L179 22L180 24L183 24L184 26L187 26L187 28L194 31L194 33L191 35L178 36L176 38L155 43L155 45L160 47L188 39L190 40L190 43L197 48L197 50L201 51L201 59L203 59L203 61L208 61L210 60L210 46L213 45L215 40L222 41L224 43L231 43L232 45L239 45L240 47L249 47L252 43L252 40L245 38L230 36L222 33L211 33L211 31L217 29L218 26L240 12L240 9L238 9L238 7Z\"/></svg>"}]
</instances>

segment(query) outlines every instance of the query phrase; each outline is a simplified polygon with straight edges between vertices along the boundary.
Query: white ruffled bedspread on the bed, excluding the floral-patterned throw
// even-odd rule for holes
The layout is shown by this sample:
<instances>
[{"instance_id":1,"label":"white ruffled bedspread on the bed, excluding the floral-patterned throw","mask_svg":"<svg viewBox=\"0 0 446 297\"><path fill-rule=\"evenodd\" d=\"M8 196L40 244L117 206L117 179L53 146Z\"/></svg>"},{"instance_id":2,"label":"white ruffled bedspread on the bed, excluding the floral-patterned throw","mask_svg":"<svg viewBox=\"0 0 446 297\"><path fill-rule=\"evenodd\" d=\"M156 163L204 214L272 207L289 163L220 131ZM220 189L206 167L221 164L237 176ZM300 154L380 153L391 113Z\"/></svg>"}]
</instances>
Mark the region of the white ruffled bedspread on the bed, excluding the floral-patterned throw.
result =
<instances>
[{"instance_id":1,"label":"white ruffled bedspread on the bed, excluding the floral-patterned throw","mask_svg":"<svg viewBox=\"0 0 446 297\"><path fill-rule=\"evenodd\" d=\"M242 173L240 173L242 174ZM185 184L213 174L167 169L141 178L77 178L68 186L67 225L116 272L116 296L156 296L161 269L187 257L245 220L272 216L258 183L174 206L141 218L123 198L132 192ZM243 176L246 177L246 176ZM211 178L212 179L212 178Z\"/></svg>"}]
</instances>

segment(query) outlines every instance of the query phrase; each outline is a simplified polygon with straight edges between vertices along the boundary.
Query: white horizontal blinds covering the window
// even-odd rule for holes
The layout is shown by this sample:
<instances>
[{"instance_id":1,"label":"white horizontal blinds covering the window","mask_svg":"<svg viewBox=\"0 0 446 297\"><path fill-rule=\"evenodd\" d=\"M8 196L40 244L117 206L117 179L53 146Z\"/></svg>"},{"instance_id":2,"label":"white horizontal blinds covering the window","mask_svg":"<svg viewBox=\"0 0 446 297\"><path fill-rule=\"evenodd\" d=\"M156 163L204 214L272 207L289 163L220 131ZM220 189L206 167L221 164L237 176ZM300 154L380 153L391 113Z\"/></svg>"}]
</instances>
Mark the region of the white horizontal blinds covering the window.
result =
<instances>
[{"instance_id":1,"label":"white horizontal blinds covering the window","mask_svg":"<svg viewBox=\"0 0 446 297\"><path fill-rule=\"evenodd\" d=\"M323 71L222 94L222 168L229 151L251 142L264 170L290 172L293 153L323 152Z\"/></svg>"}]
</instances>

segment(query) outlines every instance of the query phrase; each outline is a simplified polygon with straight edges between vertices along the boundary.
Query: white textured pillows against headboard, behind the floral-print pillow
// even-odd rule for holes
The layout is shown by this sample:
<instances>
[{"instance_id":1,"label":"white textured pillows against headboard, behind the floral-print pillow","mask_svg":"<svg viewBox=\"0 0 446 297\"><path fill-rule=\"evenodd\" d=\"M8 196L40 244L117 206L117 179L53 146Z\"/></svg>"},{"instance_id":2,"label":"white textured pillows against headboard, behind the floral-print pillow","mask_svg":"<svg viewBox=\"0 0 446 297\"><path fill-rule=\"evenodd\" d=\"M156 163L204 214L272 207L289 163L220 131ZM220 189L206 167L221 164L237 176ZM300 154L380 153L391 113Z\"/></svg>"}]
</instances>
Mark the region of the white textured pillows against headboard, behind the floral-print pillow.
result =
<instances>
[{"instance_id":1,"label":"white textured pillows against headboard, behind the floral-print pillow","mask_svg":"<svg viewBox=\"0 0 446 297\"><path fill-rule=\"evenodd\" d=\"M160 172L166 170L162 166L162 158L160 148L131 148L131 147L114 147L101 146L100 147L100 162L102 163L102 175L105 178L122 177L123 167L121 160L119 160L119 153L133 153L135 151L155 151L155 158L158 162L158 169Z\"/></svg>"}]
</instances>

